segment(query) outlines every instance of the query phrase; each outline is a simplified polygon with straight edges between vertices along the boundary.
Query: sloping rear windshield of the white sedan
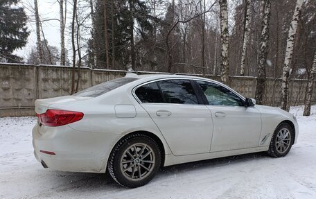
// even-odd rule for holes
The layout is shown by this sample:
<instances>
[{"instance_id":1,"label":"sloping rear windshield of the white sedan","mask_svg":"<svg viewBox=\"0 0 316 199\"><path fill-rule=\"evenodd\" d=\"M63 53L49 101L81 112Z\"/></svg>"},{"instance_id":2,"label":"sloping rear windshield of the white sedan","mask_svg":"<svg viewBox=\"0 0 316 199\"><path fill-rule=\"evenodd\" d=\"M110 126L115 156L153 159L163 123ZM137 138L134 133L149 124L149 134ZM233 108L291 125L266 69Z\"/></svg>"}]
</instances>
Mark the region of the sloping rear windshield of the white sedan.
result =
<instances>
[{"instance_id":1,"label":"sloping rear windshield of the white sedan","mask_svg":"<svg viewBox=\"0 0 316 199\"><path fill-rule=\"evenodd\" d=\"M112 89L116 89L116 88L121 87L123 85L126 85L128 83L131 83L134 80L137 80L137 78L117 78L114 80L109 80L105 83L101 83L99 85L95 85L93 87L89 87L87 89L84 89L81 92L73 94L73 96L82 96L82 97L100 96L100 95L105 94L109 91L112 91Z\"/></svg>"}]
</instances>

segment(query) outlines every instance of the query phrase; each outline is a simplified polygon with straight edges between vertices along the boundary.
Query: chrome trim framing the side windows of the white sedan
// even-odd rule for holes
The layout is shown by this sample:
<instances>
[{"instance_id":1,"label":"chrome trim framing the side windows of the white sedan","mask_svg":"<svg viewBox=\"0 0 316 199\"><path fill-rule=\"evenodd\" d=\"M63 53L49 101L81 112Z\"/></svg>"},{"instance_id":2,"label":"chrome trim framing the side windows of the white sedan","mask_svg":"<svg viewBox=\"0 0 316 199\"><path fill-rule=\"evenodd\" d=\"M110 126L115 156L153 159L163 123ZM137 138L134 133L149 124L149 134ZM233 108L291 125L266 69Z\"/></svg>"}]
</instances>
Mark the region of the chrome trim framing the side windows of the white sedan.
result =
<instances>
[{"instance_id":1,"label":"chrome trim framing the side windows of the white sedan","mask_svg":"<svg viewBox=\"0 0 316 199\"><path fill-rule=\"evenodd\" d=\"M181 77L181 78L176 78L176 77L173 77L173 78L159 78L159 79L155 79L155 80L149 80L148 82L146 83L141 83L140 85L137 85L135 86L133 89L132 89L132 96L134 96L134 98L136 99L136 101L139 103L139 104L159 104L159 105L204 105L204 104L181 104L181 103L143 103L139 100L139 98L137 97L137 95L135 94L135 91L139 88L139 87L142 87L143 85L147 85L147 84L150 84L150 83L156 83L156 82L159 82L159 81L162 81L162 80L195 80L195 81L204 81L204 82L207 82L207 83L213 83L213 84L216 84L216 85L220 85L222 87L225 87L226 89L229 89L229 91L233 92L234 94L236 94L238 97L241 98L241 100L245 103L245 97L238 94L238 92L234 91L234 89L231 89L230 87L228 87L227 85L224 85L222 83L219 83L218 81L216 80L205 80L205 79L200 79L200 78L185 78L185 77ZM193 88L194 89L194 88ZM221 107L243 107L243 106L231 106L231 105L220 105Z\"/></svg>"}]
</instances>

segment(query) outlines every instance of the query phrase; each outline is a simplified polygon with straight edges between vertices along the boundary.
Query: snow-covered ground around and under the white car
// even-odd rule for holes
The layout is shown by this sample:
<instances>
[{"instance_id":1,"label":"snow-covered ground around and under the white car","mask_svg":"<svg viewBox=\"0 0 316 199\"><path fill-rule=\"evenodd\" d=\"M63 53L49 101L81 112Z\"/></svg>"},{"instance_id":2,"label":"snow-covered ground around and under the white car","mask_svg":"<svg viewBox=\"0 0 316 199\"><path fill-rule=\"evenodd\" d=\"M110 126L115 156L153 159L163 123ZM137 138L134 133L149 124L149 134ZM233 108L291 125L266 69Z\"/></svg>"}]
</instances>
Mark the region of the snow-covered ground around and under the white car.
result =
<instances>
[{"instance_id":1,"label":"snow-covered ground around and under the white car","mask_svg":"<svg viewBox=\"0 0 316 199\"><path fill-rule=\"evenodd\" d=\"M0 198L316 198L316 106L291 111L299 139L283 158L263 153L169 166L145 187L125 189L107 174L42 168L33 156L35 117L0 118Z\"/></svg>"}]
</instances>

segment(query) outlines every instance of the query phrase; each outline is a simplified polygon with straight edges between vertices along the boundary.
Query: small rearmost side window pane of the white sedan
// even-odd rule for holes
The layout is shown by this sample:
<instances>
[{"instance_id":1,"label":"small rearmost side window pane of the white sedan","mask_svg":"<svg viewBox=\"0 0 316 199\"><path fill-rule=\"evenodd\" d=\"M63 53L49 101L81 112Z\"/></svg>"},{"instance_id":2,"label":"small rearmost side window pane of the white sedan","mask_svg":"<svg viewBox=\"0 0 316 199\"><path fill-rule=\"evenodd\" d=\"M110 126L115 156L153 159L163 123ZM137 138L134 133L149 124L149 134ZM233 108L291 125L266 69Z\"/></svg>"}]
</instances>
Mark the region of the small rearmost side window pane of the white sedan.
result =
<instances>
[{"instance_id":1,"label":"small rearmost side window pane of the white sedan","mask_svg":"<svg viewBox=\"0 0 316 199\"><path fill-rule=\"evenodd\" d=\"M157 83L149 83L139 87L135 94L142 103L164 103Z\"/></svg>"}]
</instances>

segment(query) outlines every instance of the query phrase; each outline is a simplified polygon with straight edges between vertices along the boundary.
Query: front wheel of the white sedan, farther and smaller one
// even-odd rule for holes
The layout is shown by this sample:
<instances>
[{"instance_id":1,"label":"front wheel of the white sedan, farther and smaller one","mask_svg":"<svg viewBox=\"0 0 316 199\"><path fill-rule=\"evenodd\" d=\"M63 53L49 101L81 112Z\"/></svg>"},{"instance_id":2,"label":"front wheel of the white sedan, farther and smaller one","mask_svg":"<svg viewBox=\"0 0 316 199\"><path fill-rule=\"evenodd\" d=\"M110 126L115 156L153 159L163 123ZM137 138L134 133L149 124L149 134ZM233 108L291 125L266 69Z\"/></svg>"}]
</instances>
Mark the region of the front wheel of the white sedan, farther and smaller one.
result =
<instances>
[{"instance_id":1,"label":"front wheel of the white sedan, farther and smaller one","mask_svg":"<svg viewBox=\"0 0 316 199\"><path fill-rule=\"evenodd\" d=\"M294 142L294 132L288 123L280 123L272 136L268 154L272 157L286 156Z\"/></svg>"}]
</instances>

